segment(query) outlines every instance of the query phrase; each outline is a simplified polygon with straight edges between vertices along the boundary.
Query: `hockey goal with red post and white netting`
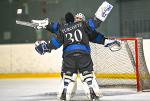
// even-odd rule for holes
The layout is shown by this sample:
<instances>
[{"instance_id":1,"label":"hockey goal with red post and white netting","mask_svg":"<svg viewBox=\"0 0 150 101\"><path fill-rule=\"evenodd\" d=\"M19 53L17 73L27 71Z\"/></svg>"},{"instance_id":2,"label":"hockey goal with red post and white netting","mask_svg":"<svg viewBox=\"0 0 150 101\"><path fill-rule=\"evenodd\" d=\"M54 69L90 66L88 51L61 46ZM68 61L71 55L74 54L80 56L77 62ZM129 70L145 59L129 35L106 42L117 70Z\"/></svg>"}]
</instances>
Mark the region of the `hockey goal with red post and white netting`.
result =
<instances>
[{"instance_id":1,"label":"hockey goal with red post and white netting","mask_svg":"<svg viewBox=\"0 0 150 101\"><path fill-rule=\"evenodd\" d=\"M135 87L137 91L150 89L150 75L146 66L142 38L120 38L121 50L91 43L94 71L100 87Z\"/></svg>"}]
</instances>

